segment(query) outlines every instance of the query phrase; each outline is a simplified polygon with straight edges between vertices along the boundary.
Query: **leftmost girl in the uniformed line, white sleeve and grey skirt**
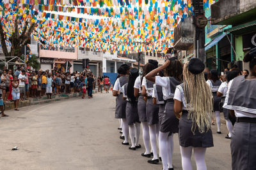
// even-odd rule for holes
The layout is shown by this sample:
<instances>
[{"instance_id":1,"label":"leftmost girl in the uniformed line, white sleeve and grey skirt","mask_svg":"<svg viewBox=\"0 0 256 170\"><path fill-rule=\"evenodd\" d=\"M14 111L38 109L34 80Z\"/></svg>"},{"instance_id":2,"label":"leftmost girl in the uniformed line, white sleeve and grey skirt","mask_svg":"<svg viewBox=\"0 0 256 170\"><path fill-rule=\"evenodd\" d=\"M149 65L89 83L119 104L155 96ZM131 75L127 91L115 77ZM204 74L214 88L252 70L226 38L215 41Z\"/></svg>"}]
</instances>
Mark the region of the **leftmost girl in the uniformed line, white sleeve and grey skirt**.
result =
<instances>
[{"instance_id":1,"label":"leftmost girl in the uniformed line, white sleeve and grey skirt","mask_svg":"<svg viewBox=\"0 0 256 170\"><path fill-rule=\"evenodd\" d=\"M128 124L126 121L126 101L123 99L123 89L122 86L125 85L125 83L128 82L128 74L129 74L130 66L127 64L122 64L118 68L118 73L122 74L120 78L118 78L115 81L114 87L113 87L113 96L116 97L116 111L115 111L115 118L121 118L122 120L122 131L124 136L120 136L120 139L124 139L124 142L122 142L122 145L129 145L129 129Z\"/></svg>"}]
</instances>

